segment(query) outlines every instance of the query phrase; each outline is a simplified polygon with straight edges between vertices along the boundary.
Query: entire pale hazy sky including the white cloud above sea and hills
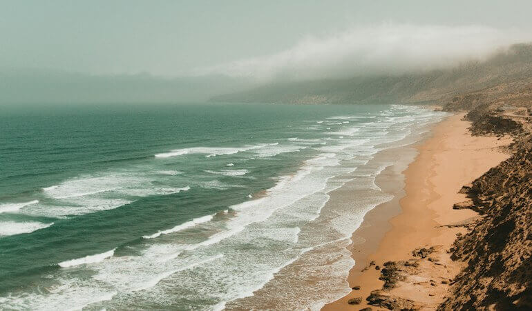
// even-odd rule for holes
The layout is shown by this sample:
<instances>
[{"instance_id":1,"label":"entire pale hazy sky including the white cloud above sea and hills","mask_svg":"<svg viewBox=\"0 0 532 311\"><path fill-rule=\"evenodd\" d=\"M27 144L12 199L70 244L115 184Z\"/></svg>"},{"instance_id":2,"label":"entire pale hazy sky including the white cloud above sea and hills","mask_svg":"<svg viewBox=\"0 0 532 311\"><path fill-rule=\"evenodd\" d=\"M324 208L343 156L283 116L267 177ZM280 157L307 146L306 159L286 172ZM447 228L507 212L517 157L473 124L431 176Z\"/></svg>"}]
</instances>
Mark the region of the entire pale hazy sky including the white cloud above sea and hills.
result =
<instances>
[{"instance_id":1,"label":"entire pale hazy sky including the white cloud above sea and hills","mask_svg":"<svg viewBox=\"0 0 532 311\"><path fill-rule=\"evenodd\" d=\"M532 42L530 12L531 0L0 0L0 105L207 101L446 68Z\"/></svg>"}]
</instances>

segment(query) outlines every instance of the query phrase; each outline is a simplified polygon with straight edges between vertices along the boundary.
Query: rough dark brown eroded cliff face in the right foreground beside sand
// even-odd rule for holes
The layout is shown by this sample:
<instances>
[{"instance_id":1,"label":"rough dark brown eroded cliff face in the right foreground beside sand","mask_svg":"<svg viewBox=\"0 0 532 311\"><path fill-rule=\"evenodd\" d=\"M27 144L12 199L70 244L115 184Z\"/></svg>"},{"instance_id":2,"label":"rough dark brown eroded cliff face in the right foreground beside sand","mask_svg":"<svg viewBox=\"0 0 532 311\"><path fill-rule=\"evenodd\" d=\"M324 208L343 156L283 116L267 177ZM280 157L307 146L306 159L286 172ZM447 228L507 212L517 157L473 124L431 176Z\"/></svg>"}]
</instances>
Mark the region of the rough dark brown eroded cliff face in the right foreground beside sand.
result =
<instances>
[{"instance_id":1,"label":"rough dark brown eroded cliff face in the right foreground beside sand","mask_svg":"<svg viewBox=\"0 0 532 311\"><path fill-rule=\"evenodd\" d=\"M440 310L532 310L532 138L473 182L468 196L483 219L455 241L453 259L468 263Z\"/></svg>"}]
</instances>

